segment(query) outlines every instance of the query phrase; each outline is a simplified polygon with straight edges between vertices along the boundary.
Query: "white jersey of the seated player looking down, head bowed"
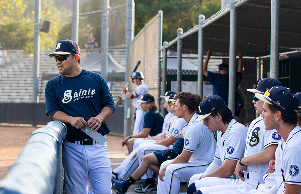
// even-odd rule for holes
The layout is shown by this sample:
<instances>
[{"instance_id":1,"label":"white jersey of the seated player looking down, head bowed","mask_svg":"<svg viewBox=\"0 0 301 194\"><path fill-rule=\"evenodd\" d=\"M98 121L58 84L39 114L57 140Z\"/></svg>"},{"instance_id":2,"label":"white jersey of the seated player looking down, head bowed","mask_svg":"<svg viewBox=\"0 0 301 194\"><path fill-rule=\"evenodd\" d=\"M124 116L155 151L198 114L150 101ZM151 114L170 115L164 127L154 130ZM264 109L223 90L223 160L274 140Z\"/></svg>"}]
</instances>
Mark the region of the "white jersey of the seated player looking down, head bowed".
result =
<instances>
[{"instance_id":1,"label":"white jersey of the seated player looking down, head bowed","mask_svg":"<svg viewBox=\"0 0 301 194\"><path fill-rule=\"evenodd\" d=\"M244 155L247 128L235 119L232 119L224 134L218 131L215 158L222 164L225 160L239 160Z\"/></svg>"}]
</instances>

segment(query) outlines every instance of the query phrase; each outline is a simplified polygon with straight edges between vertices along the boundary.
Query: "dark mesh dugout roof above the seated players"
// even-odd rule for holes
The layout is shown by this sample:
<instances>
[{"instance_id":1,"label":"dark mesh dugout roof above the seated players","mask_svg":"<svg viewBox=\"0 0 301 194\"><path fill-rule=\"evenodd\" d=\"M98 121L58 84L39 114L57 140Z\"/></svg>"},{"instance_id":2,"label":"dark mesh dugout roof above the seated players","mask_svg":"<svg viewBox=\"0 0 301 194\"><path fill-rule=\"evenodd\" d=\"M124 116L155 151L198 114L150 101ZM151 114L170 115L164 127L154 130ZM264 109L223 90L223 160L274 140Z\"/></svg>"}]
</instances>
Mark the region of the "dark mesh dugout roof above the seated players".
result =
<instances>
[{"instance_id":1,"label":"dark mesh dugout roof above the seated players","mask_svg":"<svg viewBox=\"0 0 301 194\"><path fill-rule=\"evenodd\" d=\"M243 2L243 3L242 3ZM244 56L270 54L271 1L237 0L236 51ZM206 25L206 23L208 25ZM301 0L280 0L279 53L301 50ZM230 5L206 19L203 23L204 52L229 56ZM198 53L198 26L183 33L182 53ZM165 48L177 51L177 38ZM299 53L300 56L300 53Z\"/></svg>"}]
</instances>

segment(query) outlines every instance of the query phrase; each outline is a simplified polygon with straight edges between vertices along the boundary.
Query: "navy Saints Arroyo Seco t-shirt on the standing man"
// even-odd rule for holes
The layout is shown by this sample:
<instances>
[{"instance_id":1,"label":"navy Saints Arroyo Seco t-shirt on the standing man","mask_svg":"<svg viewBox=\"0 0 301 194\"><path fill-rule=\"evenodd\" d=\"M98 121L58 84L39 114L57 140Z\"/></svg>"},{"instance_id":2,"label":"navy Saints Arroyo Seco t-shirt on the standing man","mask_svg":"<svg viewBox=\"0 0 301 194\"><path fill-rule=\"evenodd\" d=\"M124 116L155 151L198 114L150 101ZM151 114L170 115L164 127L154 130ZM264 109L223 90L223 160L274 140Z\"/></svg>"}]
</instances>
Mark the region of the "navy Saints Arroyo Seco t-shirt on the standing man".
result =
<instances>
[{"instance_id":1,"label":"navy Saints Arroyo Seco t-shirt on the standing man","mask_svg":"<svg viewBox=\"0 0 301 194\"><path fill-rule=\"evenodd\" d=\"M59 75L49 80L45 88L46 115L52 111L62 111L72 117L83 117L88 121L97 116L104 107L114 104L112 93L105 79L98 73L82 70L78 76ZM112 111L113 112L113 111ZM90 136L66 124L67 140L91 139ZM106 122L97 130L101 135L108 134Z\"/></svg>"}]
</instances>

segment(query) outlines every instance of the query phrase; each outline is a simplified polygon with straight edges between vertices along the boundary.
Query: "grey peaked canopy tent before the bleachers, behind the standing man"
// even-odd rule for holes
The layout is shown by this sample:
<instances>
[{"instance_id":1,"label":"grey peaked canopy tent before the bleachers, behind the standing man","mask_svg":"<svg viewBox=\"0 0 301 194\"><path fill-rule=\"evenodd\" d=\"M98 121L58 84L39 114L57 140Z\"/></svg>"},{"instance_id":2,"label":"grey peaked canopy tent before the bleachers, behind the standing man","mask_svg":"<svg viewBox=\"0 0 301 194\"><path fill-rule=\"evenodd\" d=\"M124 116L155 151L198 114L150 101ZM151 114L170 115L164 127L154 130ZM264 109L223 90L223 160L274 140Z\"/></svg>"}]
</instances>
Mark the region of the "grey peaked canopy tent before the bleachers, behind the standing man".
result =
<instances>
[{"instance_id":1,"label":"grey peaked canopy tent before the bleachers, behind the standing man","mask_svg":"<svg viewBox=\"0 0 301 194\"><path fill-rule=\"evenodd\" d=\"M120 65L114 60L114 58L108 53L108 66L107 73L108 78L114 77L115 81L124 81L125 67ZM86 58L86 60L81 64L81 67L85 70L96 72L101 74L101 53L93 53ZM49 80L53 77L60 75L58 71L56 72L43 72L42 79Z\"/></svg>"}]
</instances>

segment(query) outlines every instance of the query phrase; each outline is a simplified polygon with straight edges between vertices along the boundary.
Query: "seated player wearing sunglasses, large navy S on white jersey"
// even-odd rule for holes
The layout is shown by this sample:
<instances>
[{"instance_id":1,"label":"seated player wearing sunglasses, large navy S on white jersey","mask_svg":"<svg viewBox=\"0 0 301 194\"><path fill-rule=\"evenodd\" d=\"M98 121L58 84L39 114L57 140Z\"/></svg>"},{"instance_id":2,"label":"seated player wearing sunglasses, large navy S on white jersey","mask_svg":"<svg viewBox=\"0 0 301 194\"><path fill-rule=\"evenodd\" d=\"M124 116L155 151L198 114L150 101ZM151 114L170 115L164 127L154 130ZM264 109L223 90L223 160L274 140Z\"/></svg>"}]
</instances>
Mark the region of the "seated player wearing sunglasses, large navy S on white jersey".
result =
<instances>
[{"instance_id":1,"label":"seated player wearing sunglasses, large navy S on white jersey","mask_svg":"<svg viewBox=\"0 0 301 194\"><path fill-rule=\"evenodd\" d=\"M273 78L263 78L258 82L256 89L248 89L248 91L255 94L264 93L274 85L281 85L281 83ZM254 96L253 103L257 113L262 113L263 101ZM257 188L259 183L263 183L263 175L267 173L271 159L275 159L275 150L281 140L276 129L266 131L264 128L262 117L258 117L250 123L244 158L237 162L235 168L236 177L240 179L204 178L199 183L199 193L207 194L231 188L253 189ZM240 170L245 171L244 175L246 176L242 177Z\"/></svg>"}]
</instances>

